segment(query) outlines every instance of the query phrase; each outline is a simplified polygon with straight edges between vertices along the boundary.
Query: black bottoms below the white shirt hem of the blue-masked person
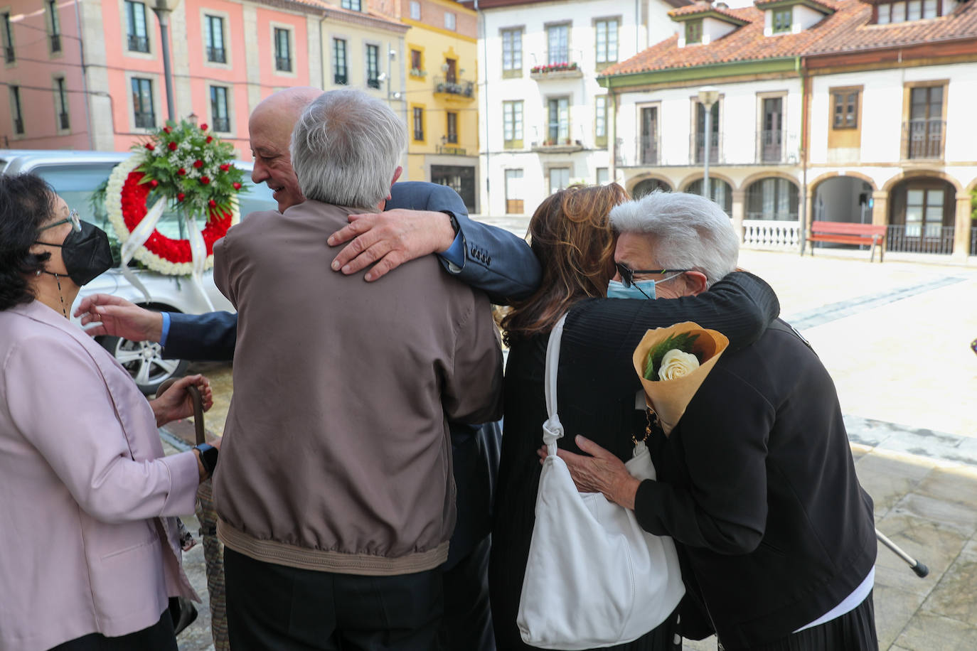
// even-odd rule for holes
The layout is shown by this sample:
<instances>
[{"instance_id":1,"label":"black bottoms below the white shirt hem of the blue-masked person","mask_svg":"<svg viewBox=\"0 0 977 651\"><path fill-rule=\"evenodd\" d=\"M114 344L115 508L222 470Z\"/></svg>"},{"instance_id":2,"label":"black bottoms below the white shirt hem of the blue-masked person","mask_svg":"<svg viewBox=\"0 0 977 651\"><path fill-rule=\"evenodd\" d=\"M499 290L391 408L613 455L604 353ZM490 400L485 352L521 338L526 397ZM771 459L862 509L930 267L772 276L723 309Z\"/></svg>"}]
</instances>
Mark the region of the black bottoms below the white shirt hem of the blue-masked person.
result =
<instances>
[{"instance_id":1,"label":"black bottoms below the white shirt hem of the blue-masked person","mask_svg":"<svg viewBox=\"0 0 977 651\"><path fill-rule=\"evenodd\" d=\"M722 644L719 649L724 649ZM871 592L855 609L841 617L811 629L791 633L775 642L736 651L878 651L875 606Z\"/></svg>"}]
</instances>

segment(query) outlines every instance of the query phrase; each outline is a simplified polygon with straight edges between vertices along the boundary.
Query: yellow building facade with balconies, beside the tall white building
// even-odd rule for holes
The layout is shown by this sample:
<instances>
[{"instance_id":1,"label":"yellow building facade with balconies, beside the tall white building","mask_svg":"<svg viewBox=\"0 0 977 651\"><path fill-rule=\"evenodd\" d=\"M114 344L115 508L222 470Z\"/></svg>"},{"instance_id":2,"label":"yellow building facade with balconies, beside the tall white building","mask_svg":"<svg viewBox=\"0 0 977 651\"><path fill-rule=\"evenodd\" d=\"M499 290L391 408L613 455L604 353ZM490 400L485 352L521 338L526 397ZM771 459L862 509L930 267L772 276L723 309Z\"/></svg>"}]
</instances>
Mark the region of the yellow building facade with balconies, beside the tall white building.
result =
<instances>
[{"instance_id":1,"label":"yellow building facade with balconies, beside the tall white building","mask_svg":"<svg viewBox=\"0 0 977 651\"><path fill-rule=\"evenodd\" d=\"M479 188L478 20L451 0L403 0L409 181L449 185L469 213Z\"/></svg>"}]
</instances>

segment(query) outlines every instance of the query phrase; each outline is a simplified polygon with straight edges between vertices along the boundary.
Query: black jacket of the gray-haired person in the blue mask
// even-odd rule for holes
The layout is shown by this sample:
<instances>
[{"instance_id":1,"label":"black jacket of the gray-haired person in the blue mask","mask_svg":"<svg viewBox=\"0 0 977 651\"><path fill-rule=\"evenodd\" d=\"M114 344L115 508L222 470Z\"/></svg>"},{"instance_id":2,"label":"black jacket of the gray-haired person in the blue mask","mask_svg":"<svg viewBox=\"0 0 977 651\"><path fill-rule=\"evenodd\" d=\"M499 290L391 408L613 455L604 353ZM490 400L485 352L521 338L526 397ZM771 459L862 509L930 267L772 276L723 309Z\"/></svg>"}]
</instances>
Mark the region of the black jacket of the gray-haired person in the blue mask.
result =
<instances>
[{"instance_id":1,"label":"black jacket of the gray-haired person in the blue mask","mask_svg":"<svg viewBox=\"0 0 977 651\"><path fill-rule=\"evenodd\" d=\"M828 371L788 328L724 353L652 454L638 521L681 544L724 648L786 637L868 576L871 498Z\"/></svg>"}]
</instances>

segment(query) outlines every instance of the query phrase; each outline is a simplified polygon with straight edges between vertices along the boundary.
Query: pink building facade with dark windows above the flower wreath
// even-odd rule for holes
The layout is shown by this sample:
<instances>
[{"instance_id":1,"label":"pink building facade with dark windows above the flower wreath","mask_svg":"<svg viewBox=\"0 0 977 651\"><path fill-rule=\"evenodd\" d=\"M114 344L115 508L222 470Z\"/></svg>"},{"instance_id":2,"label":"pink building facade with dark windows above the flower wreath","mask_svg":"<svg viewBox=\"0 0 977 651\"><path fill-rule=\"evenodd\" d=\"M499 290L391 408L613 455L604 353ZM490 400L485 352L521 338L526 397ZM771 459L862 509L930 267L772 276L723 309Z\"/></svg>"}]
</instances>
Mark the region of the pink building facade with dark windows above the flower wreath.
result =
<instances>
[{"instance_id":1,"label":"pink building facade with dark windows above the flower wreath","mask_svg":"<svg viewBox=\"0 0 977 651\"><path fill-rule=\"evenodd\" d=\"M3 0L0 0L2 3ZM348 0L183 0L168 20L175 118L250 158L247 119L290 86L332 86L323 23L355 20L403 39L404 25ZM126 150L169 118L159 17L141 0L0 4L0 147ZM359 6L359 5L358 5ZM328 81L328 83L326 83Z\"/></svg>"}]
</instances>

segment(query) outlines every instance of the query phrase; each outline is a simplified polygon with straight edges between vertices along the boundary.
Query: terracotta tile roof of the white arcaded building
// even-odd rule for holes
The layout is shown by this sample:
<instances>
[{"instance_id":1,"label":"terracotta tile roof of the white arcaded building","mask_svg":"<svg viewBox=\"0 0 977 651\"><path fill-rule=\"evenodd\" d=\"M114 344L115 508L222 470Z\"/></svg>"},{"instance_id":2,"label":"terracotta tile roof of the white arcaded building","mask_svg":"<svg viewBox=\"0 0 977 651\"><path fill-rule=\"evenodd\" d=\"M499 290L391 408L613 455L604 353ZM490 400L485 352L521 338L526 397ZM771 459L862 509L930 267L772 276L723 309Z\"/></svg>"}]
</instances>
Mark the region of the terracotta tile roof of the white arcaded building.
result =
<instances>
[{"instance_id":1,"label":"terracotta tile roof of the white arcaded building","mask_svg":"<svg viewBox=\"0 0 977 651\"><path fill-rule=\"evenodd\" d=\"M824 3L829 0L818 1ZM678 35L675 34L631 59L607 68L601 76L977 37L977 0L966 0L946 17L883 25L870 24L871 5L861 0L834 0L831 4L835 13L824 20L798 34L775 36L763 35L764 17L761 10L755 7L724 10L739 20L747 20L748 24L711 43L684 48L678 47ZM680 9L672 14L685 11Z\"/></svg>"}]
</instances>

